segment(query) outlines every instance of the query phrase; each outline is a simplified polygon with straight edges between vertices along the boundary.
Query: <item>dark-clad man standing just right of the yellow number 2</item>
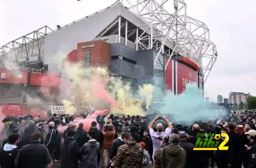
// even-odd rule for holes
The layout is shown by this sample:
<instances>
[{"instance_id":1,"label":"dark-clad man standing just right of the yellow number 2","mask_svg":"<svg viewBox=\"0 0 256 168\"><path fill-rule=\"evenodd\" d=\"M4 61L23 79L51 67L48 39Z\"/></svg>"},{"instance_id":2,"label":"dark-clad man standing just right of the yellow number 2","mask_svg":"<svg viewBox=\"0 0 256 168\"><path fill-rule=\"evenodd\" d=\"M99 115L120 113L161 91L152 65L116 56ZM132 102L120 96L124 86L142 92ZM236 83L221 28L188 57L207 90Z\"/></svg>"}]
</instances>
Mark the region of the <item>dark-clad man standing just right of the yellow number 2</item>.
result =
<instances>
[{"instance_id":1,"label":"dark-clad man standing just right of the yellow number 2","mask_svg":"<svg viewBox=\"0 0 256 168\"><path fill-rule=\"evenodd\" d=\"M234 149L234 162L232 163L233 168L241 168L242 164L242 152L241 152L241 142L240 136L235 132L236 125L233 123L228 123L228 137L233 142Z\"/></svg>"}]
</instances>

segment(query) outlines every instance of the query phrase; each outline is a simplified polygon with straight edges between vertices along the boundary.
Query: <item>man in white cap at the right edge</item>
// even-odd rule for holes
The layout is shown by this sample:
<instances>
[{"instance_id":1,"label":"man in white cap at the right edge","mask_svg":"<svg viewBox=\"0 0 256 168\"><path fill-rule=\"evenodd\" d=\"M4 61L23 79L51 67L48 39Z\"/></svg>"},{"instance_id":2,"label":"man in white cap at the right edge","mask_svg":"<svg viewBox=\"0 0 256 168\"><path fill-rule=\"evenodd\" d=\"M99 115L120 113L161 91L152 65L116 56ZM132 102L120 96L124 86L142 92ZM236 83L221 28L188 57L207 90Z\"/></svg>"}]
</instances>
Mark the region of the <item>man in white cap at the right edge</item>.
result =
<instances>
[{"instance_id":1,"label":"man in white cap at the right edge","mask_svg":"<svg viewBox=\"0 0 256 168\"><path fill-rule=\"evenodd\" d=\"M247 133L247 139L249 141L246 152L250 152L249 168L256 167L256 131L254 129L249 130Z\"/></svg>"}]
</instances>

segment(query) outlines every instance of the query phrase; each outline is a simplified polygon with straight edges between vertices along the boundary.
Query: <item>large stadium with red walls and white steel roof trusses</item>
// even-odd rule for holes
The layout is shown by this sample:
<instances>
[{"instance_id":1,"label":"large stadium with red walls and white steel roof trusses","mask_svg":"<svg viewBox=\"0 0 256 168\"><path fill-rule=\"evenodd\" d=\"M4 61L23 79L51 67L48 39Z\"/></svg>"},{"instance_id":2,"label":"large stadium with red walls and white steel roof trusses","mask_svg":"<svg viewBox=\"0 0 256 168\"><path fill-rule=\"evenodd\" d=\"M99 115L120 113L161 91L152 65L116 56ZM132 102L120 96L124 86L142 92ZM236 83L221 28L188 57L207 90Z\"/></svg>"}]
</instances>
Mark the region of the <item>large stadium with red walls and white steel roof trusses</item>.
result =
<instances>
[{"instance_id":1,"label":"large stadium with red walls and white steel roof trusses","mask_svg":"<svg viewBox=\"0 0 256 168\"><path fill-rule=\"evenodd\" d=\"M134 88L152 84L180 94L196 83L203 89L217 58L209 37L205 23L186 15L183 0L119 0L54 31L44 26L0 48L2 110L38 111L44 105L31 104L63 99L83 110L65 70L79 61L107 66Z\"/></svg>"}]
</instances>

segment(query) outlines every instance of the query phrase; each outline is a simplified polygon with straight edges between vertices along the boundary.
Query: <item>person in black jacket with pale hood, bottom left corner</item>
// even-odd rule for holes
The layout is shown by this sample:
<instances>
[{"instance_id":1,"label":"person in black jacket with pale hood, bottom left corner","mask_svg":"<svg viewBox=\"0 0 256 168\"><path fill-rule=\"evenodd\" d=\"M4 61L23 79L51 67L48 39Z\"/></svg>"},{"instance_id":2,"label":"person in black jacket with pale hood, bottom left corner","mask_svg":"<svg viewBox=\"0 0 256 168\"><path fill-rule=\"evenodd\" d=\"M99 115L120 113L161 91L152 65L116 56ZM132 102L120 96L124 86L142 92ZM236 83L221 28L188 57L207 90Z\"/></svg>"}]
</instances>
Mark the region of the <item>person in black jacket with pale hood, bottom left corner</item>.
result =
<instances>
[{"instance_id":1,"label":"person in black jacket with pale hood, bottom left corner","mask_svg":"<svg viewBox=\"0 0 256 168\"><path fill-rule=\"evenodd\" d=\"M8 142L0 149L0 167L14 168L14 161L19 152L17 144L19 143L19 135L12 134L8 137Z\"/></svg>"}]
</instances>

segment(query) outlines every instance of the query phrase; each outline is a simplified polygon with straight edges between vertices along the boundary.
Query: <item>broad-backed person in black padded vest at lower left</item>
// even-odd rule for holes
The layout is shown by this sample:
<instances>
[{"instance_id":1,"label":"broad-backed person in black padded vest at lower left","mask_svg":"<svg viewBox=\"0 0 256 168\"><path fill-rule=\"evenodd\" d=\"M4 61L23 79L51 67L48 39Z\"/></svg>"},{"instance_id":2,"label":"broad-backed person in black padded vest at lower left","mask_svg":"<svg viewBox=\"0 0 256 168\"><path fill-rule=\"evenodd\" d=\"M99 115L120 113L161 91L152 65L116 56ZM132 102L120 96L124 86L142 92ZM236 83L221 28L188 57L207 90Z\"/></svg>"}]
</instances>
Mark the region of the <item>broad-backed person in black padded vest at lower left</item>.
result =
<instances>
[{"instance_id":1,"label":"broad-backed person in black padded vest at lower left","mask_svg":"<svg viewBox=\"0 0 256 168\"><path fill-rule=\"evenodd\" d=\"M45 145L41 142L42 135L38 132L31 135L31 141L23 146L18 152L14 167L15 168L53 168L52 158Z\"/></svg>"}]
</instances>

